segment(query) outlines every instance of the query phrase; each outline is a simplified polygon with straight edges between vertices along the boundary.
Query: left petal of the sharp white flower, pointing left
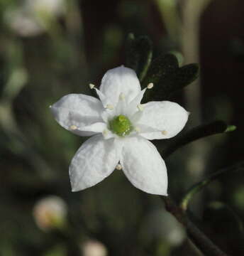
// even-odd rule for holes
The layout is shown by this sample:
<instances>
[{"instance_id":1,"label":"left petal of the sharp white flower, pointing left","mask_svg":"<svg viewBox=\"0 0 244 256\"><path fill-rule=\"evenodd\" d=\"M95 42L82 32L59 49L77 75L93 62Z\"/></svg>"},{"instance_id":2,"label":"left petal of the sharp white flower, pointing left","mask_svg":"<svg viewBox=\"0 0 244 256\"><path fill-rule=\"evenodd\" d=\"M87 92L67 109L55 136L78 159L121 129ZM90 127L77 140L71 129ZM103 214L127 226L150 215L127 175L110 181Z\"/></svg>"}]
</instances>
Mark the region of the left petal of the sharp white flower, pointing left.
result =
<instances>
[{"instance_id":1,"label":"left petal of the sharp white flower, pointing left","mask_svg":"<svg viewBox=\"0 0 244 256\"><path fill-rule=\"evenodd\" d=\"M62 127L80 136L94 134L94 132L81 132L82 127L103 121L101 119L103 110L101 102L88 95L66 95L50 108L56 121Z\"/></svg>"}]
</instances>

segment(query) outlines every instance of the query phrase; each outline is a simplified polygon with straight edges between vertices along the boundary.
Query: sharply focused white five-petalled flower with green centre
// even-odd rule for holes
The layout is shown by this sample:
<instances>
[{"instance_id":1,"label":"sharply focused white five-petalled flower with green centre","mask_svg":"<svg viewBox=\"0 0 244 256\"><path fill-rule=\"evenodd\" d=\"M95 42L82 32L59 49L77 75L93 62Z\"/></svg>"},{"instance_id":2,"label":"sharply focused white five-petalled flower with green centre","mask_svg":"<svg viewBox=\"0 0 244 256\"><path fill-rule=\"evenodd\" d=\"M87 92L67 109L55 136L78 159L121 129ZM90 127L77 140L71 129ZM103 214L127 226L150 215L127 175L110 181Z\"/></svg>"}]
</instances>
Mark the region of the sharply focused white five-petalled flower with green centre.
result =
<instances>
[{"instance_id":1,"label":"sharply focused white five-petalled flower with green centre","mask_svg":"<svg viewBox=\"0 0 244 256\"><path fill-rule=\"evenodd\" d=\"M133 70L109 70L101 80L100 100L70 94L51 106L57 122L87 139L70 164L72 191L99 183L113 170L123 169L136 188L167 196L167 169L148 139L168 139L180 132L188 112L177 103L162 101L141 105L145 90ZM118 164L118 162L120 164Z\"/></svg>"}]
</instances>

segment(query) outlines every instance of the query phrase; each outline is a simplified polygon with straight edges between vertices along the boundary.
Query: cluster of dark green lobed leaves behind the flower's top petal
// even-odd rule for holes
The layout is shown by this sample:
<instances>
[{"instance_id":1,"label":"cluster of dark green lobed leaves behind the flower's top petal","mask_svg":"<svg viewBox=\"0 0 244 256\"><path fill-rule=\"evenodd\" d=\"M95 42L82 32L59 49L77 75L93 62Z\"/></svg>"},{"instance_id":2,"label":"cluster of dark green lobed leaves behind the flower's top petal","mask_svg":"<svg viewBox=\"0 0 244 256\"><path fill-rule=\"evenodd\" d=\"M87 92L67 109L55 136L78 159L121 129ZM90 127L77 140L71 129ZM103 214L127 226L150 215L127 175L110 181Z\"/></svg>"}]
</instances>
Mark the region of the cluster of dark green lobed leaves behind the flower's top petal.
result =
<instances>
[{"instance_id":1,"label":"cluster of dark green lobed leaves behind the flower's top petal","mask_svg":"<svg viewBox=\"0 0 244 256\"><path fill-rule=\"evenodd\" d=\"M150 39L146 36L135 38L131 33L126 43L126 65L135 70L143 87L153 82L155 87L150 91L153 100L167 100L174 92L182 90L199 76L198 64L179 67L173 53L153 59Z\"/></svg>"}]
</instances>

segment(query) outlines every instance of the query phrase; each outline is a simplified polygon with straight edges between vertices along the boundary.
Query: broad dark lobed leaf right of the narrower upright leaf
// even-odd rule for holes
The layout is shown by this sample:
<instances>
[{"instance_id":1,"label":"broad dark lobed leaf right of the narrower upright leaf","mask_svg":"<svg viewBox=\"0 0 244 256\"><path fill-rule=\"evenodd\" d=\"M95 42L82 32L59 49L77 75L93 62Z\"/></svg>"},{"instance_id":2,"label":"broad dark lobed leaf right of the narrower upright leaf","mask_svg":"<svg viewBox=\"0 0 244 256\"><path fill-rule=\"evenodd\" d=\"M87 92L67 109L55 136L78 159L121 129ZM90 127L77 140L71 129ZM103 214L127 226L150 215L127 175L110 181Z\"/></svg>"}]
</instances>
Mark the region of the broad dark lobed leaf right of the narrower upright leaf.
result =
<instances>
[{"instance_id":1,"label":"broad dark lobed leaf right of the narrower upright leaf","mask_svg":"<svg viewBox=\"0 0 244 256\"><path fill-rule=\"evenodd\" d=\"M153 100L165 100L173 92L182 90L193 82L198 75L198 64L188 64L179 68L177 57L168 53L153 60L143 80L143 86L153 82L155 87L150 91L150 97Z\"/></svg>"}]
</instances>

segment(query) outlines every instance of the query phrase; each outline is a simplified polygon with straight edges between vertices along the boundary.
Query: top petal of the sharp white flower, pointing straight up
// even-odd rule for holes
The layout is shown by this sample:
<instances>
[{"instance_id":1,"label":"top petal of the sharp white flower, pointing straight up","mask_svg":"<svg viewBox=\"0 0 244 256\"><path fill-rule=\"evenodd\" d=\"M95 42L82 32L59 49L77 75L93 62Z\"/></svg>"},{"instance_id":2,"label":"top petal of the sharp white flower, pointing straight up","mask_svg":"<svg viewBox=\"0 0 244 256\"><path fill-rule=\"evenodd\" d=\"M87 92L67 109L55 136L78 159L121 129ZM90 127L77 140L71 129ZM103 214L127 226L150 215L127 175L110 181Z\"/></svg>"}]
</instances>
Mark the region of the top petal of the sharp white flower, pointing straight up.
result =
<instances>
[{"instance_id":1,"label":"top petal of the sharp white flower, pointing straight up","mask_svg":"<svg viewBox=\"0 0 244 256\"><path fill-rule=\"evenodd\" d=\"M101 92L116 105L118 97L123 93L126 102L130 102L140 92L140 82L131 68L124 66L113 68L106 72L101 80Z\"/></svg>"}]
</instances>

